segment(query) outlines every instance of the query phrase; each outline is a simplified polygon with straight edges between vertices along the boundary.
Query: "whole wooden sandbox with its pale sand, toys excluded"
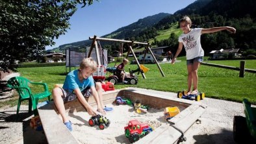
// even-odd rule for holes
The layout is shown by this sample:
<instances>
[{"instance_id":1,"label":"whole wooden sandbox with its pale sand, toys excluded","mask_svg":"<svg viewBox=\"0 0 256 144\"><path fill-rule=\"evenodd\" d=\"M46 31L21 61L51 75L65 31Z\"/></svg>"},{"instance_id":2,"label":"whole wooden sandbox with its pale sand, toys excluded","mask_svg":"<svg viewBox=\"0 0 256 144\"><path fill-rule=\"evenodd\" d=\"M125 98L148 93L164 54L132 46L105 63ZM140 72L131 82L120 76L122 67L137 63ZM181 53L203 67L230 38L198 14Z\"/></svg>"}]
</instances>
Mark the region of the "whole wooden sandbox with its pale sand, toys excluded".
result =
<instances>
[{"instance_id":1,"label":"whole wooden sandbox with its pale sand, toys excluded","mask_svg":"<svg viewBox=\"0 0 256 144\"><path fill-rule=\"evenodd\" d=\"M116 106L114 101L117 96L131 99L133 102L140 100L147 104L147 114L137 114L132 106ZM92 106L96 106L93 97L86 99ZM152 125L155 130L147 134L136 143L175 143L183 133L205 112L205 104L201 102L178 99L162 93L150 93L147 90L127 88L124 90L107 91L103 95L103 101L107 106L114 107L113 112L107 113L110 126L100 130L98 126L88 125L90 116L84 111L79 101L67 102L66 112L73 123L73 131L70 132L57 114L53 102L38 108L38 112L44 127L48 143L129 143L125 137L124 126L129 120L137 119ZM164 119L163 108L177 106L181 113L167 122ZM172 123L172 126L170 125Z\"/></svg>"}]
</instances>

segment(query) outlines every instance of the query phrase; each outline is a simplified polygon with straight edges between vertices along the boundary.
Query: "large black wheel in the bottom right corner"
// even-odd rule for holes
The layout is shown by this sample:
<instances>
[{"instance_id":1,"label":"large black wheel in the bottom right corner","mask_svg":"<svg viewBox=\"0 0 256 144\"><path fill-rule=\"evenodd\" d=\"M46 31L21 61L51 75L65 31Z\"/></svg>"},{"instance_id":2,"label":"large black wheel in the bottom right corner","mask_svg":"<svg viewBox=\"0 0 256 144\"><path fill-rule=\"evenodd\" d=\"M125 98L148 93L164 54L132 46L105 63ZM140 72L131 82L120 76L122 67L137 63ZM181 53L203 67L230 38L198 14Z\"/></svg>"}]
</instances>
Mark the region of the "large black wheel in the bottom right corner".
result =
<instances>
[{"instance_id":1,"label":"large black wheel in the bottom right corner","mask_svg":"<svg viewBox=\"0 0 256 144\"><path fill-rule=\"evenodd\" d=\"M248 138L250 132L248 130L246 124L246 117L235 116L233 119L233 138L237 143L245 143Z\"/></svg>"}]
</instances>

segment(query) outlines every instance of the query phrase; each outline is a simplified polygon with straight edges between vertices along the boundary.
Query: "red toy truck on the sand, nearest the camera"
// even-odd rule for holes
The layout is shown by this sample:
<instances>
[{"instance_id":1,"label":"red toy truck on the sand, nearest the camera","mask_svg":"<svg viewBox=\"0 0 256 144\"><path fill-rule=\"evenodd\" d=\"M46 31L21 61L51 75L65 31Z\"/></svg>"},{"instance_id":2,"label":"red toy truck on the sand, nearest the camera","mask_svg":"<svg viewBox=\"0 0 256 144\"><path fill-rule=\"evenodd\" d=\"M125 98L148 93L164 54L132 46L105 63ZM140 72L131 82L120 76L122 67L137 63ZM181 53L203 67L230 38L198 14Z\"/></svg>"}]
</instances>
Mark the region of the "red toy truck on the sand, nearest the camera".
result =
<instances>
[{"instance_id":1,"label":"red toy truck on the sand, nearest the camera","mask_svg":"<svg viewBox=\"0 0 256 144\"><path fill-rule=\"evenodd\" d=\"M151 126L147 125L147 123L140 123L136 119L129 121L128 126L125 126L125 136L131 143L138 141L138 139L152 131L153 128Z\"/></svg>"}]
</instances>

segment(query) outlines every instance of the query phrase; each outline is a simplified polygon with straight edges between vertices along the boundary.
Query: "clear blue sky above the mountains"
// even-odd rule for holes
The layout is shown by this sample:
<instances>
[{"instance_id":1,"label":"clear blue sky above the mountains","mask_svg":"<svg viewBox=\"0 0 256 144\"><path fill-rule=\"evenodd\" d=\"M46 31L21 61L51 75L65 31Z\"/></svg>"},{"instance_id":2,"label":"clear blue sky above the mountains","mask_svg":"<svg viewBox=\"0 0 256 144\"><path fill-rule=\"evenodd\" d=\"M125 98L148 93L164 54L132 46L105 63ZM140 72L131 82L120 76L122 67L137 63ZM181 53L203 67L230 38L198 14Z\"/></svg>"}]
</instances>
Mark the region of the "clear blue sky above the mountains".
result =
<instances>
[{"instance_id":1,"label":"clear blue sky above the mountains","mask_svg":"<svg viewBox=\"0 0 256 144\"><path fill-rule=\"evenodd\" d=\"M53 49L66 43L104 36L147 16L160 12L173 14L196 0L94 0L93 5L79 6L70 19L70 29L55 39Z\"/></svg>"}]
</instances>

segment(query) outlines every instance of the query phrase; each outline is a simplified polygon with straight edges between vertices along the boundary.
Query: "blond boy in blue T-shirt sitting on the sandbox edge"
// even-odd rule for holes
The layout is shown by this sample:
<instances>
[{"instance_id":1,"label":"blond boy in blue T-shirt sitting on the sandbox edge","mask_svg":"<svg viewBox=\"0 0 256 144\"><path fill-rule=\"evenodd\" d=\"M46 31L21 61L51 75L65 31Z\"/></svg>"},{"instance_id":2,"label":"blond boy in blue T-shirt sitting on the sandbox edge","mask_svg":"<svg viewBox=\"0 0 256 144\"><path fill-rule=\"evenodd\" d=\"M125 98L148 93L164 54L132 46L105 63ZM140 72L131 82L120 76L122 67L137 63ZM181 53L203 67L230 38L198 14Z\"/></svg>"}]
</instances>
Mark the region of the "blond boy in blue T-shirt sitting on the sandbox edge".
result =
<instances>
[{"instance_id":1,"label":"blond boy in blue T-shirt sitting on the sandbox edge","mask_svg":"<svg viewBox=\"0 0 256 144\"><path fill-rule=\"evenodd\" d=\"M66 125L70 131L72 130L72 123L66 115L64 102L74 101L78 98L84 108L86 108L89 115L97 115L97 111L105 115L105 110L112 110L112 108L107 108L106 106L103 109L103 89L101 87L101 83L94 83L94 78L92 78L92 74L96 69L97 64L92 58L84 58L79 69L68 73L63 87L53 89L53 100L55 102L55 106L62 117L64 125ZM97 103L97 111L94 110L84 99L85 97L89 97L90 93L92 93Z\"/></svg>"}]
</instances>

